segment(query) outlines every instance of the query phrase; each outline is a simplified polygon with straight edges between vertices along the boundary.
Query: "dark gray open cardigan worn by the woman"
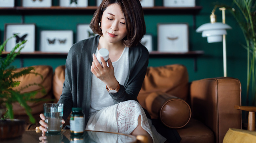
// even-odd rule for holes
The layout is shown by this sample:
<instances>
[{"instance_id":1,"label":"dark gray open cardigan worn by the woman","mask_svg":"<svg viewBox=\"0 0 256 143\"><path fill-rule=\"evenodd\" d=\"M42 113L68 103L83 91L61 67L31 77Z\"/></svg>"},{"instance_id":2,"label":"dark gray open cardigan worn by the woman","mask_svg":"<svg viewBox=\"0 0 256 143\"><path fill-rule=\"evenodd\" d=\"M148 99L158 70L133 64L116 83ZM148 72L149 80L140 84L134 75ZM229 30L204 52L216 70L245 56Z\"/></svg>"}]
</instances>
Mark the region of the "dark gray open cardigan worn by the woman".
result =
<instances>
[{"instance_id":1,"label":"dark gray open cardigan worn by the woman","mask_svg":"<svg viewBox=\"0 0 256 143\"><path fill-rule=\"evenodd\" d=\"M81 107L87 124L90 110L93 53L96 52L100 36L75 43L66 60L65 81L58 103L64 103L63 119L67 119L72 107ZM115 94L110 94L114 103L137 100L148 66L148 50L139 43L129 48L129 75L124 85Z\"/></svg>"}]
</instances>

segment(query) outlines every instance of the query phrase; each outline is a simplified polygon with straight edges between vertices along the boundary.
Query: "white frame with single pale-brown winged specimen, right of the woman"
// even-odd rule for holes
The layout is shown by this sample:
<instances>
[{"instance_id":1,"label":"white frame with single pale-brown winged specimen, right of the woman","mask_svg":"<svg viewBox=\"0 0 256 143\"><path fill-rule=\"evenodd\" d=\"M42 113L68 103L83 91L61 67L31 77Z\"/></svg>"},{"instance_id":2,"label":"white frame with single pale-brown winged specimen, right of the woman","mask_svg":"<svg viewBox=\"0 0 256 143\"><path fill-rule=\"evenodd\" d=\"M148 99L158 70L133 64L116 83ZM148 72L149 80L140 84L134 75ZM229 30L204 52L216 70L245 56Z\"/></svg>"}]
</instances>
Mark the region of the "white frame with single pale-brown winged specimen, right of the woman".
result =
<instances>
[{"instance_id":1,"label":"white frame with single pale-brown winged specimen, right of the woman","mask_svg":"<svg viewBox=\"0 0 256 143\"><path fill-rule=\"evenodd\" d=\"M188 52L188 24L158 24L159 52Z\"/></svg>"}]
</instances>

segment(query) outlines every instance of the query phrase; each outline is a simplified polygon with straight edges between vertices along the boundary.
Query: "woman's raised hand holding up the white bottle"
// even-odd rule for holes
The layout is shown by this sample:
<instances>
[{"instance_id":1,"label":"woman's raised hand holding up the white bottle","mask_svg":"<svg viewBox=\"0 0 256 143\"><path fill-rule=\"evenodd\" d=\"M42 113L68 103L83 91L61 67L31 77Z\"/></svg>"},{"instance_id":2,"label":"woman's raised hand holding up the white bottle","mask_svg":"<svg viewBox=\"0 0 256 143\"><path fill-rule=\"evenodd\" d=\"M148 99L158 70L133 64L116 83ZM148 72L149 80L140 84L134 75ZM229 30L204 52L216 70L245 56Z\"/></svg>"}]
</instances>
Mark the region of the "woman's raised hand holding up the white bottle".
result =
<instances>
[{"instance_id":1,"label":"woman's raised hand holding up the white bottle","mask_svg":"<svg viewBox=\"0 0 256 143\"><path fill-rule=\"evenodd\" d=\"M92 73L103 81L108 88L117 88L118 81L115 77L114 67L111 60L108 59L108 66L102 57L100 57L100 60L102 62L102 66L98 62L95 54L93 54L93 64L91 66Z\"/></svg>"}]
</instances>

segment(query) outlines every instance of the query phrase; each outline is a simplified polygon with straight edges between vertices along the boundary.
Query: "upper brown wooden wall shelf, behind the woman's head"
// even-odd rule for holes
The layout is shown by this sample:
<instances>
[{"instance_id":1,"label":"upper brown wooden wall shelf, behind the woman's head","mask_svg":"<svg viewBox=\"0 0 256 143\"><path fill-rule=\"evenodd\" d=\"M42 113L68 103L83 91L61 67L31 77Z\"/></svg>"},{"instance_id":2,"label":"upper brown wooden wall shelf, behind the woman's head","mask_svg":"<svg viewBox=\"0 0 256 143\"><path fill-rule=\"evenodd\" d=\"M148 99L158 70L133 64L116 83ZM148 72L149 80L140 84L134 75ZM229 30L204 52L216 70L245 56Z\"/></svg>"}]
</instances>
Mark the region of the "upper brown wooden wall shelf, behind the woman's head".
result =
<instances>
[{"instance_id":1,"label":"upper brown wooden wall shelf, behind the woman's head","mask_svg":"<svg viewBox=\"0 0 256 143\"><path fill-rule=\"evenodd\" d=\"M97 6L88 6L85 8L70 8L52 6L49 8L0 8L0 15L21 14L21 15L47 15L47 14L94 14ZM201 6L196 7L182 7L182 8L170 8L170 7L145 7L143 8L144 14L189 14L196 15L201 11Z\"/></svg>"}]
</instances>

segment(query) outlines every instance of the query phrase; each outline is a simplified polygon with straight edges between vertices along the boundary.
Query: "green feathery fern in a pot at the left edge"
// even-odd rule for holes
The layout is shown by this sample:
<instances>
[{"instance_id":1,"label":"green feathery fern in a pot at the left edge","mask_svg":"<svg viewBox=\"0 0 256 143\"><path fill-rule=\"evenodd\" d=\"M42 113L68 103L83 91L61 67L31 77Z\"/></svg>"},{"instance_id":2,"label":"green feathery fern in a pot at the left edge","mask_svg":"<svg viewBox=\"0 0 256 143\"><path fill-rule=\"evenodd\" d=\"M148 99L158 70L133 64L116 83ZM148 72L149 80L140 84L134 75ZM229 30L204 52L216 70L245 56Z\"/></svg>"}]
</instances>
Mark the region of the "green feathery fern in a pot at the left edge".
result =
<instances>
[{"instance_id":1,"label":"green feathery fern in a pot at the left edge","mask_svg":"<svg viewBox=\"0 0 256 143\"><path fill-rule=\"evenodd\" d=\"M16 35L14 35L11 38L14 38ZM13 87L18 87L20 84L20 81L15 81L16 78L27 75L27 74L35 74L38 76L41 76L43 79L43 76L39 73L34 72L33 67L28 67L23 69L19 72L14 72L17 68L14 66L11 66L11 63L15 60L15 57L20 54L20 51L24 48L24 44L26 43L26 40L19 42L15 45L15 47L11 50L9 54L7 54L6 57L2 57L2 53L4 52L4 47L8 40L3 42L2 45L0 45L0 107L6 109L6 113L4 115L3 119L13 119L13 109L12 109L12 103L18 102L22 107L25 108L27 115L29 116L29 119L32 123L35 123L35 119L32 116L32 109L27 104L27 102L36 102L41 101L40 99L35 99L35 95L39 91L32 91L29 93L21 93L25 88L28 88L32 85L40 86L40 84L33 83L29 84L25 87L19 87L19 90L14 90ZM16 52L17 51L17 52ZM44 87L42 87L42 90L40 92L45 92Z\"/></svg>"}]
</instances>

